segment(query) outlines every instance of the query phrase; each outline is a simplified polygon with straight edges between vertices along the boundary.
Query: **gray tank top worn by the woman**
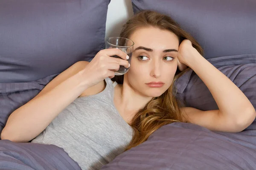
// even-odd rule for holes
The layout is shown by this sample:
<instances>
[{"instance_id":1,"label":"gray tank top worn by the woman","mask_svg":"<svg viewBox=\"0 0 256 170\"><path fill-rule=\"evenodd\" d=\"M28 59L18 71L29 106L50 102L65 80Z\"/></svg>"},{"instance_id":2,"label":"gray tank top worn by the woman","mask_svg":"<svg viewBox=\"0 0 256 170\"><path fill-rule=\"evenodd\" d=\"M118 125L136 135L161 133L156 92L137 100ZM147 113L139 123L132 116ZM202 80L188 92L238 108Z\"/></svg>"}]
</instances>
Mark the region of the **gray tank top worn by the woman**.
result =
<instances>
[{"instance_id":1,"label":"gray tank top worn by the woman","mask_svg":"<svg viewBox=\"0 0 256 170\"><path fill-rule=\"evenodd\" d=\"M32 142L62 147L83 170L100 169L121 154L133 130L113 104L111 79L105 81L104 91L77 98Z\"/></svg>"}]
</instances>

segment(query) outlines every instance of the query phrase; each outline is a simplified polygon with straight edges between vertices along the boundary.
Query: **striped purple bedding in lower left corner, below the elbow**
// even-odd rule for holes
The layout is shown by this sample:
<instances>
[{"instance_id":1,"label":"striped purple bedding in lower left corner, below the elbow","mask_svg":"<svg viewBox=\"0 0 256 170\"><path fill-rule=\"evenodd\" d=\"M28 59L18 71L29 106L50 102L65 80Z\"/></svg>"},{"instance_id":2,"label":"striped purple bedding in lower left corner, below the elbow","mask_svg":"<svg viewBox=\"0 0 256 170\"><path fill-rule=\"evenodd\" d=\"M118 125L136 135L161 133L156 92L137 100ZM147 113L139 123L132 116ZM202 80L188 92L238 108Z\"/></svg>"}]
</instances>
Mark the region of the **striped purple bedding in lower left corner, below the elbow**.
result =
<instances>
[{"instance_id":1,"label":"striped purple bedding in lower left corner, below the elbow","mask_svg":"<svg viewBox=\"0 0 256 170\"><path fill-rule=\"evenodd\" d=\"M64 149L52 144L0 141L1 170L81 170Z\"/></svg>"}]
</instances>

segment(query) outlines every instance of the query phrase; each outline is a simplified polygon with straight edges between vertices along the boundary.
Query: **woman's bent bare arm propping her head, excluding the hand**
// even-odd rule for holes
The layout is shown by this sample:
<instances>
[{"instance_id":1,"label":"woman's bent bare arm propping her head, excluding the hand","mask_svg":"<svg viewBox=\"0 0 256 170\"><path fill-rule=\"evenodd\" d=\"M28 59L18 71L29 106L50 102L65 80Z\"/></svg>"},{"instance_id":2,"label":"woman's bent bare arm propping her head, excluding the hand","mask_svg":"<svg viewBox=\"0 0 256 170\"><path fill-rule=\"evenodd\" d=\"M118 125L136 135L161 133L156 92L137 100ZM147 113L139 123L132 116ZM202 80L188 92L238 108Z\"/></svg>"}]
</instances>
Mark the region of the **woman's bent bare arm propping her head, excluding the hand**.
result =
<instances>
[{"instance_id":1,"label":"woman's bent bare arm propping her head, excluding the hand","mask_svg":"<svg viewBox=\"0 0 256 170\"><path fill-rule=\"evenodd\" d=\"M186 65L201 78L211 92L219 110L200 111L183 108L189 122L207 127L210 130L240 132L255 119L253 105L243 92L224 74L191 48Z\"/></svg>"}]
</instances>

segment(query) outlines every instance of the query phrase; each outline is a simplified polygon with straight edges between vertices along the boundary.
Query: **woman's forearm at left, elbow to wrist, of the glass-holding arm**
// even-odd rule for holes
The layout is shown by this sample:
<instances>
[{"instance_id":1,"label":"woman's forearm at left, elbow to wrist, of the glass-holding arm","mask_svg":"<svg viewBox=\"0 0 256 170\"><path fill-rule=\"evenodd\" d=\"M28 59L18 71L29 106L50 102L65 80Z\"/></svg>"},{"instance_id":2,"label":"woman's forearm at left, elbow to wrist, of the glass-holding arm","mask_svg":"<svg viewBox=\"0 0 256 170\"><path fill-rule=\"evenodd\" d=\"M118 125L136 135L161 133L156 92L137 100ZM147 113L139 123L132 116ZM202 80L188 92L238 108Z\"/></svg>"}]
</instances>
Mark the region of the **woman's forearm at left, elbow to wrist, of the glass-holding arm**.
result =
<instances>
[{"instance_id":1,"label":"woman's forearm at left, elbow to wrist, of the glass-holding arm","mask_svg":"<svg viewBox=\"0 0 256 170\"><path fill-rule=\"evenodd\" d=\"M28 142L38 136L58 114L85 90L79 74L66 79L10 116L1 138L15 142Z\"/></svg>"}]
</instances>

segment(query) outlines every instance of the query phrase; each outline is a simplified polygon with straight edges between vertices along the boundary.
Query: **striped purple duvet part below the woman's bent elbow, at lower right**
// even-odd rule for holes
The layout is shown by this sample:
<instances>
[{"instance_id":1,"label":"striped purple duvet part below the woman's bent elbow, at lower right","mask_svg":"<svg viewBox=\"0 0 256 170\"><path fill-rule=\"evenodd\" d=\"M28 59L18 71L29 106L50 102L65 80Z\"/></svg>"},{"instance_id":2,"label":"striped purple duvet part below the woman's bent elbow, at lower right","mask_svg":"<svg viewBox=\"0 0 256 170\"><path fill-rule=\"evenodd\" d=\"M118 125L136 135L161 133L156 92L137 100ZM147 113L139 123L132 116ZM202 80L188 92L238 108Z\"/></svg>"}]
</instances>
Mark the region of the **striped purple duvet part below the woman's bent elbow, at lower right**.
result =
<instances>
[{"instance_id":1,"label":"striped purple duvet part below the woman's bent elbow, at lower right","mask_svg":"<svg viewBox=\"0 0 256 170\"><path fill-rule=\"evenodd\" d=\"M255 138L255 132L221 135L175 122L160 127L102 170L255 170Z\"/></svg>"}]
</instances>

